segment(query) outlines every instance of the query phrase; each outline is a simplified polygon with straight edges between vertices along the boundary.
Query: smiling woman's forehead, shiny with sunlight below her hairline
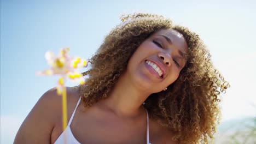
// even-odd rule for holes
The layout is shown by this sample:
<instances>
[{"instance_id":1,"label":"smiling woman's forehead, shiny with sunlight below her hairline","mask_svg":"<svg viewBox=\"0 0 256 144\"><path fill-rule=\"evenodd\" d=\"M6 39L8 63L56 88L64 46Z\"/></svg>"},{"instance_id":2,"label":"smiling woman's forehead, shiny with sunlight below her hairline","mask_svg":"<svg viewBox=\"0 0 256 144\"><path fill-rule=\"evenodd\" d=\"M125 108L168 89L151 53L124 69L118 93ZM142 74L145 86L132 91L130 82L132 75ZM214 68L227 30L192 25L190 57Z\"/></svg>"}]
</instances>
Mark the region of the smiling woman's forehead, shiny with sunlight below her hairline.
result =
<instances>
[{"instance_id":1,"label":"smiling woman's forehead, shiny with sunlight below her hairline","mask_svg":"<svg viewBox=\"0 0 256 144\"><path fill-rule=\"evenodd\" d=\"M173 29L161 29L160 31L154 33L154 35L165 35L169 39L171 39L173 45L179 47L179 49L183 50L184 52L188 52L188 45L183 37L183 35Z\"/></svg>"}]
</instances>

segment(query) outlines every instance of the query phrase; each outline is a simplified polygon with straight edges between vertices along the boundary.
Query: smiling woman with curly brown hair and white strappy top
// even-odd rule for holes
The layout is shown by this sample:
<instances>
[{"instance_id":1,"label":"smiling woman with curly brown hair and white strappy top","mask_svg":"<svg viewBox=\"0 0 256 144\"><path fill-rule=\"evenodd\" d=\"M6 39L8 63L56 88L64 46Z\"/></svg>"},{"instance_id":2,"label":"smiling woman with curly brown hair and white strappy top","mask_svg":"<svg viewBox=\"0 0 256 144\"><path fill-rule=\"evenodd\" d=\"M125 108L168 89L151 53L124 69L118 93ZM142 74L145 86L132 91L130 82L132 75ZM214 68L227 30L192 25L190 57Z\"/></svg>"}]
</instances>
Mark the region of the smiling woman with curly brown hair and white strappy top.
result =
<instances>
[{"instance_id":1,"label":"smiling woman with curly brown hair and white strappy top","mask_svg":"<svg viewBox=\"0 0 256 144\"><path fill-rule=\"evenodd\" d=\"M127 15L90 59L85 85L43 94L14 143L207 143L229 86L194 32L151 14Z\"/></svg>"}]
</instances>

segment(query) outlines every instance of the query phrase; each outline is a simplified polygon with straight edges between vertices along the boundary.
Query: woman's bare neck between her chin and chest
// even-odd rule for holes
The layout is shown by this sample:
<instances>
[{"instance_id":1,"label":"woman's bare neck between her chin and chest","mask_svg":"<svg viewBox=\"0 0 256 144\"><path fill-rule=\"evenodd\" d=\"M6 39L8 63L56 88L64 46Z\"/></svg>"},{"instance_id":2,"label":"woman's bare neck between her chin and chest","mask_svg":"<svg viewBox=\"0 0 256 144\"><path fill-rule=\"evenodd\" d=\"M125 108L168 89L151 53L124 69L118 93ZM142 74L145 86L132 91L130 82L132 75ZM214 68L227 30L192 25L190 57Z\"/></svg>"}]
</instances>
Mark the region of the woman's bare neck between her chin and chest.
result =
<instances>
[{"instance_id":1,"label":"woman's bare neck between her chin and chest","mask_svg":"<svg viewBox=\"0 0 256 144\"><path fill-rule=\"evenodd\" d=\"M150 93L136 86L128 76L120 76L104 105L120 117L135 117L144 112L144 101Z\"/></svg>"}]
</instances>

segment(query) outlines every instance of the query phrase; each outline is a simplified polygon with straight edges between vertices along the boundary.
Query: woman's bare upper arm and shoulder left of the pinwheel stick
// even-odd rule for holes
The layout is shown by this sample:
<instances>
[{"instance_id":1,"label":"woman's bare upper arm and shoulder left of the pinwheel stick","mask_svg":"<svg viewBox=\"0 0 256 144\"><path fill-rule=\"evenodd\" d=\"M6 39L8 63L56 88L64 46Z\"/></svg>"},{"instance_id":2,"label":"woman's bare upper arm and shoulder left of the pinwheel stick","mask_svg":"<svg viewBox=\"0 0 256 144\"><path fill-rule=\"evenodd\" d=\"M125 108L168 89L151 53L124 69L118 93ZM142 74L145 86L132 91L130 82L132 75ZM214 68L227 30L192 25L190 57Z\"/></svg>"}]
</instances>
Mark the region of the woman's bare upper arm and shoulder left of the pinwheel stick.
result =
<instances>
[{"instance_id":1,"label":"woman's bare upper arm and shoulder left of the pinwheel stick","mask_svg":"<svg viewBox=\"0 0 256 144\"><path fill-rule=\"evenodd\" d=\"M14 143L50 143L51 131L61 116L61 97L56 89L45 92L28 114Z\"/></svg>"}]
</instances>

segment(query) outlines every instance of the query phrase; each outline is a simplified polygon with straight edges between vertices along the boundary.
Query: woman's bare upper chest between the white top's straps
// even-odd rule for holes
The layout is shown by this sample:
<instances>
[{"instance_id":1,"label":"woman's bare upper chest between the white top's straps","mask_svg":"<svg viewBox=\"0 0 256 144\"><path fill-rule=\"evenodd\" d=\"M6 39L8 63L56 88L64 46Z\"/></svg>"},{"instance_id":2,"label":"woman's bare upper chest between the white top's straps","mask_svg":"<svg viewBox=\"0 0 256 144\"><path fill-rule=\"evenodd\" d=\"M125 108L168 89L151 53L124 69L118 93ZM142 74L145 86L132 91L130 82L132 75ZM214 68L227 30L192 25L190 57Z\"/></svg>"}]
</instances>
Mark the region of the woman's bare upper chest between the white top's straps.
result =
<instances>
[{"instance_id":1,"label":"woman's bare upper chest between the white top's straps","mask_svg":"<svg viewBox=\"0 0 256 144\"><path fill-rule=\"evenodd\" d=\"M147 143L147 116L131 121L111 115L77 112L70 128L80 143ZM57 139L59 133L61 123L53 139Z\"/></svg>"}]
</instances>

